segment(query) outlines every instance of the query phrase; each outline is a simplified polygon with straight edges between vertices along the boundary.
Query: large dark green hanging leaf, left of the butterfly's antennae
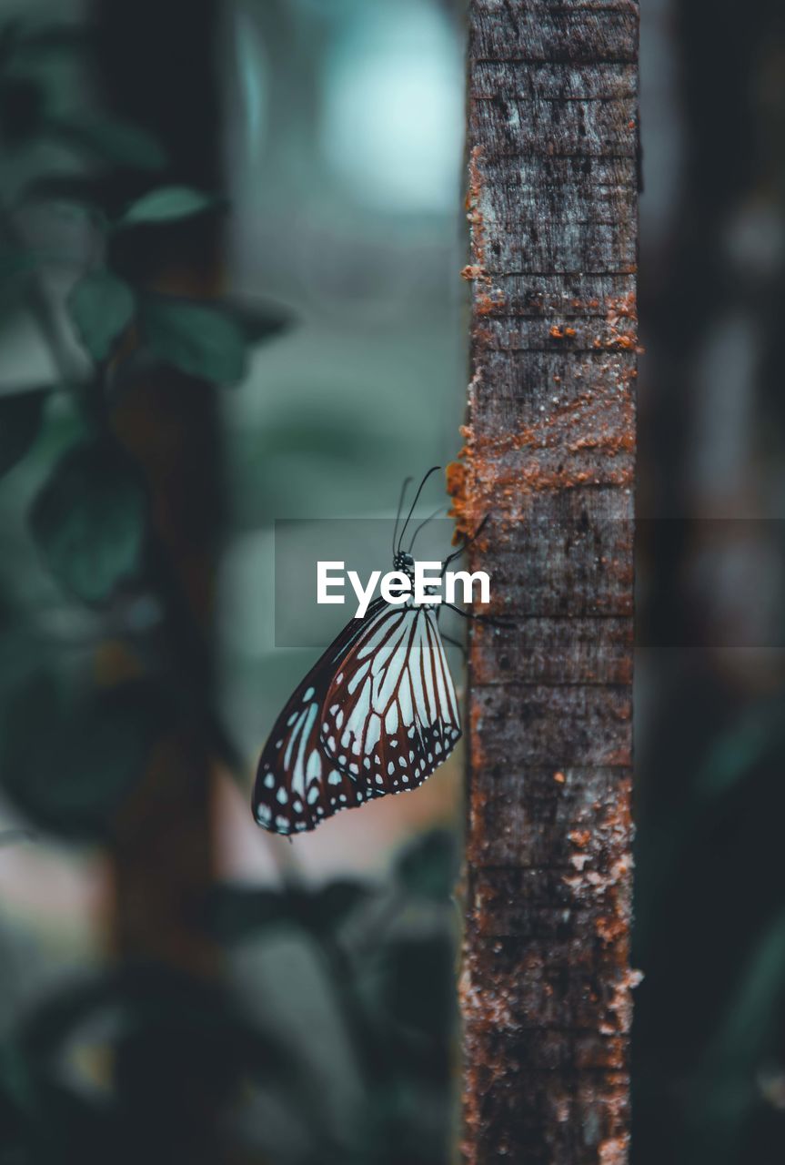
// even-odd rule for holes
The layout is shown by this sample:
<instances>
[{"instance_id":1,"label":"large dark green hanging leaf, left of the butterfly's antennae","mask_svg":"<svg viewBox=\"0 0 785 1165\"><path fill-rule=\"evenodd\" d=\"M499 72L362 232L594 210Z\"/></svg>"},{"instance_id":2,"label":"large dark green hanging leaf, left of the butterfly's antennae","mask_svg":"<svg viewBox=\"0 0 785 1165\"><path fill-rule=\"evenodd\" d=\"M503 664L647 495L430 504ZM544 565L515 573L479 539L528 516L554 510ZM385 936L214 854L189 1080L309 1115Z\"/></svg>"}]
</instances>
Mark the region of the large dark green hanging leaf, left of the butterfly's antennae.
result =
<instances>
[{"instance_id":1,"label":"large dark green hanging leaf, left of the butterfly's antennae","mask_svg":"<svg viewBox=\"0 0 785 1165\"><path fill-rule=\"evenodd\" d=\"M35 499L30 529L57 581L86 602L100 602L139 570L144 510L130 466L98 445L83 445L63 457Z\"/></svg>"}]
</instances>

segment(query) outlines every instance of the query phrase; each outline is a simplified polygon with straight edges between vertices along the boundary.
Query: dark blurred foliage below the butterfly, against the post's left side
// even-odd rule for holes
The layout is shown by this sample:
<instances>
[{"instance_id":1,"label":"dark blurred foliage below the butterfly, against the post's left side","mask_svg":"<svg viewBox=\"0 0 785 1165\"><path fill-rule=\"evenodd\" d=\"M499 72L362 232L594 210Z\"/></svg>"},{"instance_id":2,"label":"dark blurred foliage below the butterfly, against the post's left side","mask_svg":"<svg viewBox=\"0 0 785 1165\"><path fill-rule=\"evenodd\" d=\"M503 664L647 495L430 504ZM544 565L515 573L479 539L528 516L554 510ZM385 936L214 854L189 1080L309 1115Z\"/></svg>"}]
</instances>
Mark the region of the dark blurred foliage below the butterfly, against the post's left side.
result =
<instances>
[{"instance_id":1,"label":"dark blurred foliage below the butterfly, against the post's left side","mask_svg":"<svg viewBox=\"0 0 785 1165\"><path fill-rule=\"evenodd\" d=\"M290 1033L294 1071L276 1099L296 1116L300 1144L287 1138L285 1125L282 1138L261 1128L260 1148L270 1162L445 1162L457 1032L454 910L446 889L454 857L443 831L434 831L404 850L396 862L404 877L396 875L384 887L339 880L281 891L222 885L211 895L205 916L211 934L240 948L242 958L276 946L287 952L285 962L273 963L277 973L268 1009L276 1030ZM313 955L324 995L313 991L303 1026L298 968ZM303 1102L313 1051L309 1040L323 1030L324 1008L335 1009L330 1024L338 1021L342 1037L331 1048L331 1073L349 1079L359 1073L359 1100L353 1115L337 1127L334 1142L318 1118L320 1104L332 1103L332 1080L325 1079L313 1100ZM344 1040L351 1053L346 1066Z\"/></svg>"}]
</instances>

